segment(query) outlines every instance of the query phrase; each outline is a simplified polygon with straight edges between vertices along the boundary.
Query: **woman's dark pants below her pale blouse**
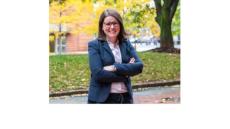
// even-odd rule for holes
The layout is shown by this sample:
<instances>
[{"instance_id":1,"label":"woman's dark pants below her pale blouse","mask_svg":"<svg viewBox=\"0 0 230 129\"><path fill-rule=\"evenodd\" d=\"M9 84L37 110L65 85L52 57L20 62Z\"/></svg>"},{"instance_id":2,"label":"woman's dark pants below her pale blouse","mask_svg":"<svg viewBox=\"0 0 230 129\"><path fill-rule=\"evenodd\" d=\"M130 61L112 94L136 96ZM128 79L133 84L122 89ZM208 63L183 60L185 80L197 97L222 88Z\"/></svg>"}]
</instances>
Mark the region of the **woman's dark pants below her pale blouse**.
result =
<instances>
[{"instance_id":1,"label":"woman's dark pants below her pale blouse","mask_svg":"<svg viewBox=\"0 0 230 129\"><path fill-rule=\"evenodd\" d=\"M88 100L89 104L96 104L97 102ZM129 93L110 93L104 104L132 104L132 99Z\"/></svg>"}]
</instances>

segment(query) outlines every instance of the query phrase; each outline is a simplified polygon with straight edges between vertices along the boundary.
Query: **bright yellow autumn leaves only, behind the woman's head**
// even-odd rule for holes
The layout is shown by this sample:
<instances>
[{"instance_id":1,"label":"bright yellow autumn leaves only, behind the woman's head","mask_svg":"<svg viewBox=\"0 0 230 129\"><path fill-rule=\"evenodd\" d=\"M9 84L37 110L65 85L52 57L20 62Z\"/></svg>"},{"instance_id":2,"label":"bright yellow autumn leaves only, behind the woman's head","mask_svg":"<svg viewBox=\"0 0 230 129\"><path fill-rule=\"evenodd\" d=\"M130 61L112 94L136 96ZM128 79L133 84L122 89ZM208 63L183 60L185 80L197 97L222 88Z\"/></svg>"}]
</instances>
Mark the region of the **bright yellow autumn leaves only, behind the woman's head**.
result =
<instances>
[{"instance_id":1,"label":"bright yellow autumn leaves only, behind the woman's head","mask_svg":"<svg viewBox=\"0 0 230 129\"><path fill-rule=\"evenodd\" d=\"M138 10L139 6L134 7L134 5L144 5L144 3L150 1L152 0L116 0L115 3L114 0L97 0L96 2L92 0L65 0L63 4L53 1L49 7L49 23L65 25L68 28L68 32L72 34L84 32L93 35L98 31L99 16L106 8L114 8L122 17L125 17L130 9L136 8ZM150 28L154 35L158 36L160 30L154 17L151 17L153 14L149 13L145 15L148 18L143 23L145 23L146 27ZM135 31L135 28L130 29L132 23L126 22L126 24L128 25L126 29L132 30L132 34L138 33L138 31Z\"/></svg>"}]
</instances>

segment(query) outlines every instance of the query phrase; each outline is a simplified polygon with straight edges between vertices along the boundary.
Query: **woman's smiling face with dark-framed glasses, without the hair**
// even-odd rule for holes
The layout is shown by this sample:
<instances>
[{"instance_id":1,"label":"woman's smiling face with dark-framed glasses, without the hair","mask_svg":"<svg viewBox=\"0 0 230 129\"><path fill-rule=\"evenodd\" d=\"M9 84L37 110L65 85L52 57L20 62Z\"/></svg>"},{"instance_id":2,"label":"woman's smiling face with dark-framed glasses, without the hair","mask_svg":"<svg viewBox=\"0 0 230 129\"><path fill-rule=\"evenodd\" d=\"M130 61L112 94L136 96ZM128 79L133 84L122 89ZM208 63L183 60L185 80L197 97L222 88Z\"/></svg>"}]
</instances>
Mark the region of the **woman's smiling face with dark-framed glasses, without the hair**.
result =
<instances>
[{"instance_id":1,"label":"woman's smiling face with dark-framed glasses, without the hair","mask_svg":"<svg viewBox=\"0 0 230 129\"><path fill-rule=\"evenodd\" d=\"M117 38L120 32L119 22L112 16L106 17L103 22L103 31L107 38Z\"/></svg>"}]
</instances>

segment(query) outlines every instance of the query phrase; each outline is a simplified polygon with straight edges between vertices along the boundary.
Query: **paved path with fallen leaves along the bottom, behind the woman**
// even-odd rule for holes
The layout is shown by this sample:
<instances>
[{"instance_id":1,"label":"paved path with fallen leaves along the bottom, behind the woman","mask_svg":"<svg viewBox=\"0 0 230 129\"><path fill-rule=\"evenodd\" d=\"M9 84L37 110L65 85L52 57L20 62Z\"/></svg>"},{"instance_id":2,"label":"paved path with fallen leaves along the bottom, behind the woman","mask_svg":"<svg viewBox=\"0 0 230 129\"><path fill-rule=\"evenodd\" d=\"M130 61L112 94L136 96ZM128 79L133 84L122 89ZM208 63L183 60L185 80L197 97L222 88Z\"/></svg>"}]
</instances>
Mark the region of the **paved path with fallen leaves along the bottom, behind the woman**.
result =
<instances>
[{"instance_id":1,"label":"paved path with fallen leaves along the bottom, behind the woman","mask_svg":"<svg viewBox=\"0 0 230 129\"><path fill-rule=\"evenodd\" d=\"M64 96L50 98L51 104L85 104L87 96ZM180 103L180 86L151 87L134 90L135 104L179 104Z\"/></svg>"}]
</instances>

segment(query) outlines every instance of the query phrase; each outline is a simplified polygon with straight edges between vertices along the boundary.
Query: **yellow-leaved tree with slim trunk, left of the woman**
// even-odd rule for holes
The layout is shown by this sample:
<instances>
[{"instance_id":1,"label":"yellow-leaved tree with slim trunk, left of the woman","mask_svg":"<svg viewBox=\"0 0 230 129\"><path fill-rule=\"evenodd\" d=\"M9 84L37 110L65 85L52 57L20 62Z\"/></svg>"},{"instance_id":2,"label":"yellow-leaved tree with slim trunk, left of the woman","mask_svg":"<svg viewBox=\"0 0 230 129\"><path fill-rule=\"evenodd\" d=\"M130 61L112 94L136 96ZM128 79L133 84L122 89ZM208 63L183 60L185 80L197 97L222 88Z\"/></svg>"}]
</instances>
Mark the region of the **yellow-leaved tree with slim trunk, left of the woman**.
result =
<instances>
[{"instance_id":1,"label":"yellow-leaved tree with slim trunk, left of the woman","mask_svg":"<svg viewBox=\"0 0 230 129\"><path fill-rule=\"evenodd\" d=\"M92 21L92 12L91 0L51 0L49 2L49 23L52 26L50 33L55 36L56 52L59 54L62 52L64 35L69 33L78 35L84 31L84 26L89 24L87 21Z\"/></svg>"}]
</instances>

